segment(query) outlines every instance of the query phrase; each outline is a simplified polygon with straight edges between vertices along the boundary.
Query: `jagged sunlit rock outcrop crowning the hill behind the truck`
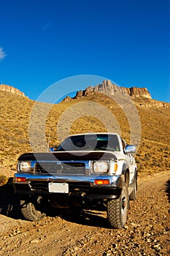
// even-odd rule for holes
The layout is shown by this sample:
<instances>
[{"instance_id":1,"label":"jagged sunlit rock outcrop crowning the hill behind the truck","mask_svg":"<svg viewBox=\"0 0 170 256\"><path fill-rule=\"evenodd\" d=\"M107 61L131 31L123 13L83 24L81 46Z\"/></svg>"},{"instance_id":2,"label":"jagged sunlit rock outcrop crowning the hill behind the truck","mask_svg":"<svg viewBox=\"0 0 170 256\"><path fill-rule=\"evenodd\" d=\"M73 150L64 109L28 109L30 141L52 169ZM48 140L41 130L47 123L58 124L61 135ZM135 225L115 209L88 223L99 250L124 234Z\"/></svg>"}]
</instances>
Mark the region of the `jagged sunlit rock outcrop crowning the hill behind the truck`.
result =
<instances>
[{"instance_id":1,"label":"jagged sunlit rock outcrop crowning the hill behind the truck","mask_svg":"<svg viewBox=\"0 0 170 256\"><path fill-rule=\"evenodd\" d=\"M116 94L117 92L121 94L128 94L131 97L147 97L152 99L150 92L146 88L131 87L125 88L123 86L117 86L112 84L110 80L104 80L103 83L98 84L97 86L89 86L85 91L98 91L103 94Z\"/></svg>"}]
</instances>

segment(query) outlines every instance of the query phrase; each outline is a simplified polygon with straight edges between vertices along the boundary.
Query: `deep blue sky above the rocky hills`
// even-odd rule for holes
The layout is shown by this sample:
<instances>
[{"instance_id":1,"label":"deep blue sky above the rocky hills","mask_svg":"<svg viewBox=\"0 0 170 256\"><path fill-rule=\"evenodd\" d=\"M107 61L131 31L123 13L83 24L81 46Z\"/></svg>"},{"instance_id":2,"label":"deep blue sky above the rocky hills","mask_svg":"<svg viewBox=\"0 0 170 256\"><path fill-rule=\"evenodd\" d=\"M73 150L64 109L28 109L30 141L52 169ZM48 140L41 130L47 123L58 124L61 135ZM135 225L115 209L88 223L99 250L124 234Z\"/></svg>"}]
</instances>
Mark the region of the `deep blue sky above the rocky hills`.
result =
<instances>
[{"instance_id":1,"label":"deep blue sky above the rocky hills","mask_svg":"<svg viewBox=\"0 0 170 256\"><path fill-rule=\"evenodd\" d=\"M74 75L147 87L170 102L170 1L1 1L0 84L37 99Z\"/></svg>"}]
</instances>

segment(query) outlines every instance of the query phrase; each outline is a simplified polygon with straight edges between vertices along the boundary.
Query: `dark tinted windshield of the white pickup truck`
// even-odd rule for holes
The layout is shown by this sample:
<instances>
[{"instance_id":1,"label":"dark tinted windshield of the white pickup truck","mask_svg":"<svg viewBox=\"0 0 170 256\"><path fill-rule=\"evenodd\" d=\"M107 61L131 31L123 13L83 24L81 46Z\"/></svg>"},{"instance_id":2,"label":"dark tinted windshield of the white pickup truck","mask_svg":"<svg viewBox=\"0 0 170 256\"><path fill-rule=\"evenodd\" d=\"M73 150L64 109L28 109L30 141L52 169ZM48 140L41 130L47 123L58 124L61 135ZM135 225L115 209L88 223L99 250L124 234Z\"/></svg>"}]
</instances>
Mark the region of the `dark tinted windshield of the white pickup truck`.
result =
<instances>
[{"instance_id":1,"label":"dark tinted windshield of the white pickup truck","mask_svg":"<svg viewBox=\"0 0 170 256\"><path fill-rule=\"evenodd\" d=\"M120 151L117 135L76 135L63 140L56 151Z\"/></svg>"}]
</instances>

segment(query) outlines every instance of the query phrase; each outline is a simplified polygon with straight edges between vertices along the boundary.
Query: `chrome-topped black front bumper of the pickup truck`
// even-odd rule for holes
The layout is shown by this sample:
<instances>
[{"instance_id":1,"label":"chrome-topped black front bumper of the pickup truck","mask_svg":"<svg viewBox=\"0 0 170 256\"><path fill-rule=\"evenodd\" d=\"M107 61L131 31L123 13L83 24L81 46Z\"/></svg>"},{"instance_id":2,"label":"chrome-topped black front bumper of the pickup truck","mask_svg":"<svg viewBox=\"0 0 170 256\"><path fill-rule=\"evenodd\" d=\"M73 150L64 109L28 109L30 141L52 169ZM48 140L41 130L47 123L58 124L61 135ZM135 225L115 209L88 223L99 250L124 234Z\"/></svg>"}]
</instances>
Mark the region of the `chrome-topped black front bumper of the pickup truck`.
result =
<instances>
[{"instance_id":1,"label":"chrome-topped black front bumper of the pickup truck","mask_svg":"<svg viewBox=\"0 0 170 256\"><path fill-rule=\"evenodd\" d=\"M18 181L20 178L21 181ZM23 181L23 178L25 181ZM109 180L109 184L95 184L96 180ZM117 199L124 183L124 176L52 176L34 175L28 173L15 173L13 184L15 192L20 196L44 195L50 197L58 193L49 192L48 184L69 184L68 196L79 196L88 199ZM59 195L62 196L61 193ZM64 194L64 196L66 196Z\"/></svg>"}]
</instances>

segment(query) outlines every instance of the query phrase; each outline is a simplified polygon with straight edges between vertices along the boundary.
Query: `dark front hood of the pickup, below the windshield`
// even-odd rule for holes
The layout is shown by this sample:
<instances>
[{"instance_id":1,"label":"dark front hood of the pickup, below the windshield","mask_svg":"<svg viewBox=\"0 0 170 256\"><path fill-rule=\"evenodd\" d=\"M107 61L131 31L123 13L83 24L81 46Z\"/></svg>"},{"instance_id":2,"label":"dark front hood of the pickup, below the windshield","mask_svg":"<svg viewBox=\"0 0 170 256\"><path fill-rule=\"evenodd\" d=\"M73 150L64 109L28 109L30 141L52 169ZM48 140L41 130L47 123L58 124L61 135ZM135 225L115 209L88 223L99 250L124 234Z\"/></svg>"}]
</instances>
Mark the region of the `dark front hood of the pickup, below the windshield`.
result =
<instances>
[{"instance_id":1,"label":"dark front hood of the pickup, below the windshield","mask_svg":"<svg viewBox=\"0 0 170 256\"><path fill-rule=\"evenodd\" d=\"M58 151L49 153L22 154L18 161L81 161L81 160L117 160L113 152L108 151Z\"/></svg>"}]
</instances>

